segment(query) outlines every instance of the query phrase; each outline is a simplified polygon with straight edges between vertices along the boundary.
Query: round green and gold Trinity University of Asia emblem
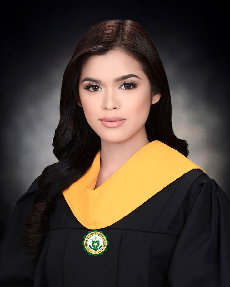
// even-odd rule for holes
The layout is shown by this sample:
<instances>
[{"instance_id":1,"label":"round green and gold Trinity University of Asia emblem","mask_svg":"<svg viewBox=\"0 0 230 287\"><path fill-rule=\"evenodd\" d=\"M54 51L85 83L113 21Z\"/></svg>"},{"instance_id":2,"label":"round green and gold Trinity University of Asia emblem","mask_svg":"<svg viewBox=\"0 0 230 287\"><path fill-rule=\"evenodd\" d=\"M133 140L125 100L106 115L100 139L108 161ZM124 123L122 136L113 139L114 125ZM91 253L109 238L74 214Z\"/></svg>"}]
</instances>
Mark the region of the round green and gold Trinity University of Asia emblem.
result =
<instances>
[{"instance_id":1,"label":"round green and gold Trinity University of Asia emblem","mask_svg":"<svg viewBox=\"0 0 230 287\"><path fill-rule=\"evenodd\" d=\"M88 233L84 235L82 244L84 250L87 251L89 255L98 256L102 255L104 251L107 250L109 241L103 231L94 229L93 231L88 231Z\"/></svg>"}]
</instances>

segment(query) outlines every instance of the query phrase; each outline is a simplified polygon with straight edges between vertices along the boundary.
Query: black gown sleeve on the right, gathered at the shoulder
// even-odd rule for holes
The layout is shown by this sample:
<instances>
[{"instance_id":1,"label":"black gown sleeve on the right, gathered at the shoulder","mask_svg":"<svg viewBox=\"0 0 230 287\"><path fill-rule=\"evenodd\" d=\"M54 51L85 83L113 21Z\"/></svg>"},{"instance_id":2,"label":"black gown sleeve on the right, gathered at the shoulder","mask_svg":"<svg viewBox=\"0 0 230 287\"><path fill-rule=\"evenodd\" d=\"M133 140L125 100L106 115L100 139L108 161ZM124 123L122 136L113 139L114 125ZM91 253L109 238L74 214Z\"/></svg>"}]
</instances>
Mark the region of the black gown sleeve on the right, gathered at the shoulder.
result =
<instances>
[{"instance_id":1,"label":"black gown sleeve on the right, gathered at the shoulder","mask_svg":"<svg viewBox=\"0 0 230 287\"><path fill-rule=\"evenodd\" d=\"M211 178L199 185L174 249L170 287L230 286L230 202Z\"/></svg>"}]
</instances>

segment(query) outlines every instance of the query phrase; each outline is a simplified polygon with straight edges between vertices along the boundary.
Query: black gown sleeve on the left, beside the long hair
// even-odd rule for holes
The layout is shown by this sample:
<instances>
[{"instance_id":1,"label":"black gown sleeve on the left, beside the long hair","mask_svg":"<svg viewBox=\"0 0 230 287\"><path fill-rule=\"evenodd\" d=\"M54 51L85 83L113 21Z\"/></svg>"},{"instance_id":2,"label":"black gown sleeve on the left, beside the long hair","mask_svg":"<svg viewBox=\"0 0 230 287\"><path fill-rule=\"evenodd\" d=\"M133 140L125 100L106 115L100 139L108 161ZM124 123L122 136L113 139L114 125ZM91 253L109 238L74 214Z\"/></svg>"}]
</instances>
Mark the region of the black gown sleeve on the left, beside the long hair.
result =
<instances>
[{"instance_id":1,"label":"black gown sleeve on the left, beside the long hair","mask_svg":"<svg viewBox=\"0 0 230 287\"><path fill-rule=\"evenodd\" d=\"M36 261L27 258L28 250L22 244L22 228L30 208L36 201L38 178L16 202L2 238L0 254L0 286L33 286Z\"/></svg>"}]
</instances>

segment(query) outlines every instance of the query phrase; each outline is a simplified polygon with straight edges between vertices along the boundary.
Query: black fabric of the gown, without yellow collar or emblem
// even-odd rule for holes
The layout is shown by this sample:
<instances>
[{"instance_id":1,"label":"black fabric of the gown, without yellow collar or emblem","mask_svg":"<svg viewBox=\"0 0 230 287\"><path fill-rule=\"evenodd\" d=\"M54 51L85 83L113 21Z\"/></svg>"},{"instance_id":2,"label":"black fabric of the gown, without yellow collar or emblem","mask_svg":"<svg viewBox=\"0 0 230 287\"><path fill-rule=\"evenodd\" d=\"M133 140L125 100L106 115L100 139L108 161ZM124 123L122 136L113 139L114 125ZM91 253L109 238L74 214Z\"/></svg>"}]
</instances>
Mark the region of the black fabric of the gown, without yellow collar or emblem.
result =
<instances>
[{"instance_id":1,"label":"black fabric of the gown, without yellow collar or emblem","mask_svg":"<svg viewBox=\"0 0 230 287\"><path fill-rule=\"evenodd\" d=\"M230 286L230 202L200 169L185 173L121 220L98 229L109 241L108 250L98 256L83 250L89 230L61 194L49 214L41 255L31 262L20 238L38 178L17 201L3 238L0 286Z\"/></svg>"}]
</instances>

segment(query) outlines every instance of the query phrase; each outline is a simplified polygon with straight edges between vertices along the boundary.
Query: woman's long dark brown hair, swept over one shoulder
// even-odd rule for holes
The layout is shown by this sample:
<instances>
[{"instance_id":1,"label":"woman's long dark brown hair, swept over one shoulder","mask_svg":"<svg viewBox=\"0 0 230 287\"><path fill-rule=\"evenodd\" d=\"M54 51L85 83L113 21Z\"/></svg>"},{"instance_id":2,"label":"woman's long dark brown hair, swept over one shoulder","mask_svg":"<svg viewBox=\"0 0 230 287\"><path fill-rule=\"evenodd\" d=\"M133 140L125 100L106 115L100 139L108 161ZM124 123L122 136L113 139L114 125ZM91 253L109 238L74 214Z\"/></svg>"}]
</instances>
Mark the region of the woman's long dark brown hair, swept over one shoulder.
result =
<instances>
[{"instance_id":1,"label":"woman's long dark brown hair, swept over one shoulder","mask_svg":"<svg viewBox=\"0 0 230 287\"><path fill-rule=\"evenodd\" d=\"M188 143L178 139L172 127L172 105L168 79L155 45L145 29L132 20L106 20L91 27L78 42L63 75L60 119L53 138L53 153L58 158L42 171L38 179L37 202L24 225L22 241L37 258L48 231L48 213L55 199L81 178L101 148L98 134L88 124L78 92L82 66L92 55L119 49L136 59L151 86L151 94L161 93L151 105L145 128L148 140L159 140L188 156Z\"/></svg>"}]
</instances>

